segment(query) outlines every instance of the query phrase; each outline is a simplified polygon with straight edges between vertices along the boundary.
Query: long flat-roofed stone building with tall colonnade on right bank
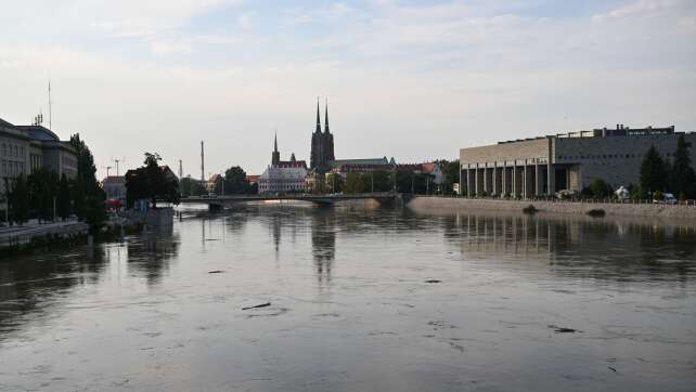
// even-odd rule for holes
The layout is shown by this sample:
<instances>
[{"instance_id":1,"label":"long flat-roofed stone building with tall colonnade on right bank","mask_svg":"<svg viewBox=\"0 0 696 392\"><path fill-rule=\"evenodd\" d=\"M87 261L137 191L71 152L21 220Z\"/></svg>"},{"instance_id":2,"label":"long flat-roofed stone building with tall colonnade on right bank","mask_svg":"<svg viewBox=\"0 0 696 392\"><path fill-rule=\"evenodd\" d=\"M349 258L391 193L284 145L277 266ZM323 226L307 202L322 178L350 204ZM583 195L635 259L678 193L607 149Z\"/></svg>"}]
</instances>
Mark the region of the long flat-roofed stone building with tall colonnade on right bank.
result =
<instances>
[{"instance_id":1,"label":"long flat-roofed stone building with tall colonnade on right bank","mask_svg":"<svg viewBox=\"0 0 696 392\"><path fill-rule=\"evenodd\" d=\"M637 185L643 156L655 146L671 159L676 141L684 135L692 162L696 162L696 132L667 128L594 129L555 135L499 142L460 149L460 192L473 196L553 196L579 192L592 180L613 187Z\"/></svg>"}]
</instances>

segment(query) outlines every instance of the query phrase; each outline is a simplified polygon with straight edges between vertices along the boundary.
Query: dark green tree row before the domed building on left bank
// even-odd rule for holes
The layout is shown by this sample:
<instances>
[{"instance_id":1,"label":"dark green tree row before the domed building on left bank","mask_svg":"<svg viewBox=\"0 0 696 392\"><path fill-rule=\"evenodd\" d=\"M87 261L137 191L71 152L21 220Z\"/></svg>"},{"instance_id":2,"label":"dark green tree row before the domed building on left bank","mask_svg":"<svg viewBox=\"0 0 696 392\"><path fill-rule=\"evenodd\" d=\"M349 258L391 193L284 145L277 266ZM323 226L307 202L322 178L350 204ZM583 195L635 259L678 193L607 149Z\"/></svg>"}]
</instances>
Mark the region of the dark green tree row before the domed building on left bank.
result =
<instances>
[{"instance_id":1,"label":"dark green tree row before the domed building on left bank","mask_svg":"<svg viewBox=\"0 0 696 392\"><path fill-rule=\"evenodd\" d=\"M75 178L39 168L28 175L4 179L9 224L24 224L31 218L39 223L54 218L66 220L75 214L92 231L101 227L106 219L105 195L96 181L94 157L79 133L70 136L69 145L77 155Z\"/></svg>"}]
</instances>

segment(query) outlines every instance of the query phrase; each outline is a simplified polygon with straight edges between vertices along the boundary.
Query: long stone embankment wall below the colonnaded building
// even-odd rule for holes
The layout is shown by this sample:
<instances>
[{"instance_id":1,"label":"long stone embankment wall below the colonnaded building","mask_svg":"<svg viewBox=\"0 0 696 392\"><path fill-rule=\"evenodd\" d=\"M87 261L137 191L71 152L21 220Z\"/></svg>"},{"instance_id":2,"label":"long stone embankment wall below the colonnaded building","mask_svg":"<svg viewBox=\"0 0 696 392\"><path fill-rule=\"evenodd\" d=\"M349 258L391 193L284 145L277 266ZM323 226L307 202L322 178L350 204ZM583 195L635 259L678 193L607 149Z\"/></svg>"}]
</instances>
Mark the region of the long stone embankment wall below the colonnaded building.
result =
<instances>
[{"instance_id":1,"label":"long stone embankment wall below the colonnaded building","mask_svg":"<svg viewBox=\"0 0 696 392\"><path fill-rule=\"evenodd\" d=\"M529 205L534 206L540 213L570 213L584 215L590 210L604 210L607 215L669 218L696 220L696 206L669 206L658 204L615 204L615 202L579 202L579 201L530 201L530 200L497 200L467 199L446 197L414 197L407 205L420 211L438 212L517 212Z\"/></svg>"}]
</instances>

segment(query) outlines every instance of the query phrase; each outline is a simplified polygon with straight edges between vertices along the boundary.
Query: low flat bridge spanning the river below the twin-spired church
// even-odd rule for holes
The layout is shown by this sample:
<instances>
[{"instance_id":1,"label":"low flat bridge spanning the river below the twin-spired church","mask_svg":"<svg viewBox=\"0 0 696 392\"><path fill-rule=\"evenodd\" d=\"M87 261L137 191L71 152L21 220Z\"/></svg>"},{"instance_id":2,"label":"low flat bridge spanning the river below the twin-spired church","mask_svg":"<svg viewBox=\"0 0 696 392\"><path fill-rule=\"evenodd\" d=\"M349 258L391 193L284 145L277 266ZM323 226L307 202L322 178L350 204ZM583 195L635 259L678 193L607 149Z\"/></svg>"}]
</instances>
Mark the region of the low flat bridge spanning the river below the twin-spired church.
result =
<instances>
[{"instance_id":1,"label":"low flat bridge spanning the river below the twin-spired church","mask_svg":"<svg viewBox=\"0 0 696 392\"><path fill-rule=\"evenodd\" d=\"M373 192L361 194L261 194L233 196L191 196L181 198L180 204L208 205L210 210L222 209L235 202L245 201L310 201L319 206L332 206L338 201L373 199L379 204L394 201L399 197L396 192Z\"/></svg>"}]
</instances>

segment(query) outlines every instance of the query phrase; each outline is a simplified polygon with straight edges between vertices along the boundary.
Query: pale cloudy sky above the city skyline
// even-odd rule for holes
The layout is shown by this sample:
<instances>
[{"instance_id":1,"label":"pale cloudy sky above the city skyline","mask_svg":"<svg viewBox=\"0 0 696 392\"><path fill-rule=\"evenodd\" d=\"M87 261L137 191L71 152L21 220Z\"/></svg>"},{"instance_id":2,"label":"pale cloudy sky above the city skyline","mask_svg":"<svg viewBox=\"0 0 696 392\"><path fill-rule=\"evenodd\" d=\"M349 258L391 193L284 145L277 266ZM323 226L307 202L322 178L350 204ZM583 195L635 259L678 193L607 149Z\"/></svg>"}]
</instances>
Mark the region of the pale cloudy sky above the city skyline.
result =
<instances>
[{"instance_id":1,"label":"pale cloudy sky above the city skyline","mask_svg":"<svg viewBox=\"0 0 696 392\"><path fill-rule=\"evenodd\" d=\"M79 132L99 174L145 152L184 174L602 127L696 131L693 0L1 0L0 118ZM112 174L115 169L112 169Z\"/></svg>"}]
</instances>

